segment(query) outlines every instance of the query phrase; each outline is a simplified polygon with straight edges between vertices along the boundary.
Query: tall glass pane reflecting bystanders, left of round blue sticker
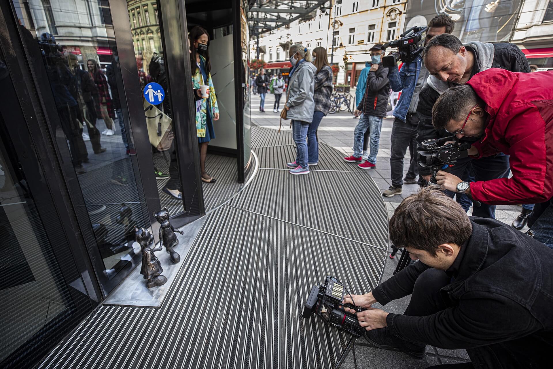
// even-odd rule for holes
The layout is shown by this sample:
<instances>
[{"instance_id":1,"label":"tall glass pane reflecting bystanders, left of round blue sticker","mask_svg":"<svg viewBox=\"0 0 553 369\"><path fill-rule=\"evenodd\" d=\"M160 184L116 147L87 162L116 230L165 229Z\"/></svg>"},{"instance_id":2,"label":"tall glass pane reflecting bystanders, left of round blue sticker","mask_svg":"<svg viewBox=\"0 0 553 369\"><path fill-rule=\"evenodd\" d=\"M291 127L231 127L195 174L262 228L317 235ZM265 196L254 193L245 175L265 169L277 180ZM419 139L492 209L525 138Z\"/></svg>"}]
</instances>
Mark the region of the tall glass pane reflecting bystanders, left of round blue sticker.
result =
<instances>
[{"instance_id":1,"label":"tall glass pane reflecting bystanders, left of round blue sticker","mask_svg":"<svg viewBox=\"0 0 553 369\"><path fill-rule=\"evenodd\" d=\"M133 247L133 226L148 225L149 220L142 186L135 181L131 126L117 88L120 69L111 22L106 21L111 20L107 2L88 8L102 13L80 17L87 7L75 3L63 10L54 4L48 8L50 2L36 3L29 13L20 0L12 1L35 73L45 71L48 79L50 93L46 87L39 92L46 103L53 101L54 107L46 110L57 113L48 123L62 160L74 168L76 191L84 200L77 207L86 208L91 243L97 244L111 279L140 252ZM51 16L44 17L48 12Z\"/></svg>"}]
</instances>

